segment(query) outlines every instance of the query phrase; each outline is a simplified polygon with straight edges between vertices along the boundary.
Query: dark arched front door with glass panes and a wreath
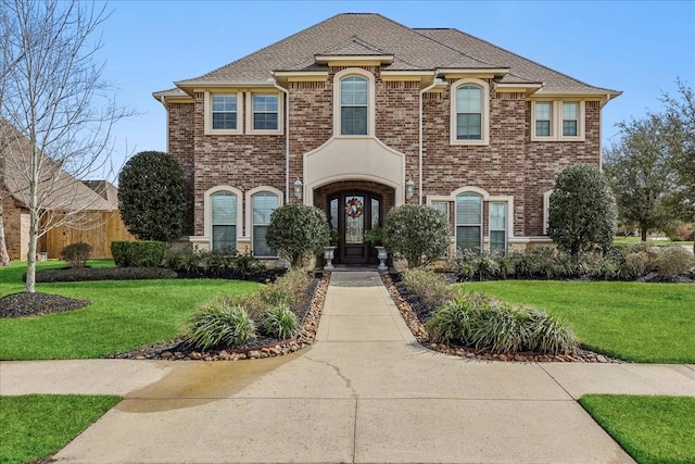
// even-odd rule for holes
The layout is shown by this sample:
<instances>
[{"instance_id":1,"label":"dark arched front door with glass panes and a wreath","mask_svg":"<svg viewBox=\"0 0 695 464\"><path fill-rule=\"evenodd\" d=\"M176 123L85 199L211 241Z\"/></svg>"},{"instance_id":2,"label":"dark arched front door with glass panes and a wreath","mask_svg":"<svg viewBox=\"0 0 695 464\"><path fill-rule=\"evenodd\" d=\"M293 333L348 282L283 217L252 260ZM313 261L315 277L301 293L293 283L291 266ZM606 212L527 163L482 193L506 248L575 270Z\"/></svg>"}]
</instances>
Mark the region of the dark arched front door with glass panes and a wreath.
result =
<instances>
[{"instance_id":1,"label":"dark arched front door with glass panes and a wreath","mask_svg":"<svg viewBox=\"0 0 695 464\"><path fill-rule=\"evenodd\" d=\"M374 247L365 243L364 235L381 225L381 196L367 192L341 192L329 197L328 217L338 230L336 252L338 264L376 264Z\"/></svg>"}]
</instances>

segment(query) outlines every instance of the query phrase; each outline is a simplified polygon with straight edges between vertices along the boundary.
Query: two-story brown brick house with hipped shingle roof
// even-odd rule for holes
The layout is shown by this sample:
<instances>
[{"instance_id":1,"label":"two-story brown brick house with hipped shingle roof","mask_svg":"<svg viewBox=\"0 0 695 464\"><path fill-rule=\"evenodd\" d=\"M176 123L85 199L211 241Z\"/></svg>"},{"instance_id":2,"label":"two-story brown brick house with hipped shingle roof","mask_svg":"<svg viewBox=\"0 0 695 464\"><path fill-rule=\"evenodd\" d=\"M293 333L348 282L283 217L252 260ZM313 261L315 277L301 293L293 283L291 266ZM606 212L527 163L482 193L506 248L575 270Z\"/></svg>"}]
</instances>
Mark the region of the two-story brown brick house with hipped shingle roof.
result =
<instances>
[{"instance_id":1,"label":"two-story brown brick house with hipped shingle roof","mask_svg":"<svg viewBox=\"0 0 695 464\"><path fill-rule=\"evenodd\" d=\"M549 241L548 192L599 164L593 87L456 29L340 14L155 92L191 199L190 241L273 256L271 211L326 211L338 263L366 263L363 233L402 203L451 222L452 249Z\"/></svg>"}]
</instances>

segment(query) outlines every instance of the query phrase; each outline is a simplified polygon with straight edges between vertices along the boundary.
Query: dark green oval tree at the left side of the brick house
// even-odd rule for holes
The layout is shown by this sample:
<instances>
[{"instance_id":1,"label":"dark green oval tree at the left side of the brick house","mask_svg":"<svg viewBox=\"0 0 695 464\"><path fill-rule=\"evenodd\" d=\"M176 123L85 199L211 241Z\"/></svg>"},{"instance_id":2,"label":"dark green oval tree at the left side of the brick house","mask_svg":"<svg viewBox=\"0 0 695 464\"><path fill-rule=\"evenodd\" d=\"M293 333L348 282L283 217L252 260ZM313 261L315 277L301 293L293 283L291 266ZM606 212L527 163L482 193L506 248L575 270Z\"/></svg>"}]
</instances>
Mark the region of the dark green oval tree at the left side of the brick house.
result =
<instances>
[{"instance_id":1,"label":"dark green oval tree at the left side of the brick house","mask_svg":"<svg viewBox=\"0 0 695 464\"><path fill-rule=\"evenodd\" d=\"M142 151L118 174L118 209L128 231L140 240L179 238L186 213L184 172L176 159Z\"/></svg>"}]
</instances>

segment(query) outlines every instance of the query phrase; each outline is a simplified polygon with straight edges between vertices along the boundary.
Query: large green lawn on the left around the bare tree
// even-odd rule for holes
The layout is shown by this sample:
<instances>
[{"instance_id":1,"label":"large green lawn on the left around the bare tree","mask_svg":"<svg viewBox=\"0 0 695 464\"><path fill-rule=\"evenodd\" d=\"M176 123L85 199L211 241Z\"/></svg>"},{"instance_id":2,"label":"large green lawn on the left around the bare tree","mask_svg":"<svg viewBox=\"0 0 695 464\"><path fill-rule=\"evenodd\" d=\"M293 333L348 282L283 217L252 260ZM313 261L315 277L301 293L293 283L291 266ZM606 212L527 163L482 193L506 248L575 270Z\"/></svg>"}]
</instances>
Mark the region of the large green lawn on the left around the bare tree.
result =
<instances>
[{"instance_id":1,"label":"large green lawn on the left around the bare tree","mask_svg":"<svg viewBox=\"0 0 695 464\"><path fill-rule=\"evenodd\" d=\"M41 263L41 268L63 265ZM0 297L23 291L24 267L0 268ZM46 316L1 318L0 360L103 358L172 340L185 331L182 322L198 303L257 286L216 279L37 284L37 291L92 303Z\"/></svg>"}]
</instances>

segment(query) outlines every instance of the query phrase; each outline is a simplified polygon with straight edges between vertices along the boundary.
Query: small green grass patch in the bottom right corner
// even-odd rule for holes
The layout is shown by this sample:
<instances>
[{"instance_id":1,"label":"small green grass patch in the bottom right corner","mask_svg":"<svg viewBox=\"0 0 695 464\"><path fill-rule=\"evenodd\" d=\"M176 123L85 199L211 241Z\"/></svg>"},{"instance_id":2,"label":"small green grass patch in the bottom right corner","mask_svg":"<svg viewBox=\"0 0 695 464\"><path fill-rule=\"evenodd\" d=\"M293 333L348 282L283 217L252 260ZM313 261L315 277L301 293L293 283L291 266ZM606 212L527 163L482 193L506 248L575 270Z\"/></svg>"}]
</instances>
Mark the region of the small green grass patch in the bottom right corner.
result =
<instances>
[{"instance_id":1,"label":"small green grass patch in the bottom right corner","mask_svg":"<svg viewBox=\"0 0 695 464\"><path fill-rule=\"evenodd\" d=\"M640 464L695 462L695 398L587 394L579 402Z\"/></svg>"}]
</instances>

